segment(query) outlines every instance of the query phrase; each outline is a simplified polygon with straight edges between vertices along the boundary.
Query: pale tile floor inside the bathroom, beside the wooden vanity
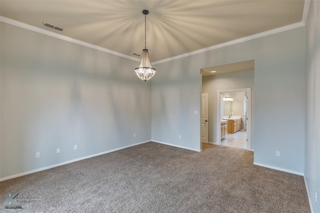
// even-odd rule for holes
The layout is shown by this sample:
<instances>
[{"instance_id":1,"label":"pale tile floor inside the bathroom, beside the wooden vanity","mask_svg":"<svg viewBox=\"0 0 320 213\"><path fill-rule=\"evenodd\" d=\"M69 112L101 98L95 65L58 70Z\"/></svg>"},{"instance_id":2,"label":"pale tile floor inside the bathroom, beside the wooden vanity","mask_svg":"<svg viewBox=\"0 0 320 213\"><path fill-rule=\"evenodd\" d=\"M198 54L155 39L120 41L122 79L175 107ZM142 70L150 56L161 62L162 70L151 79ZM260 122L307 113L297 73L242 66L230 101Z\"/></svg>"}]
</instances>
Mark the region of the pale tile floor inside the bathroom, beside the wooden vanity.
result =
<instances>
[{"instance_id":1,"label":"pale tile floor inside the bathroom, beside the wooden vanity","mask_svg":"<svg viewBox=\"0 0 320 213\"><path fill-rule=\"evenodd\" d=\"M233 134L227 134L226 138L221 140L221 145L246 149L246 131L240 130Z\"/></svg>"}]
</instances>

